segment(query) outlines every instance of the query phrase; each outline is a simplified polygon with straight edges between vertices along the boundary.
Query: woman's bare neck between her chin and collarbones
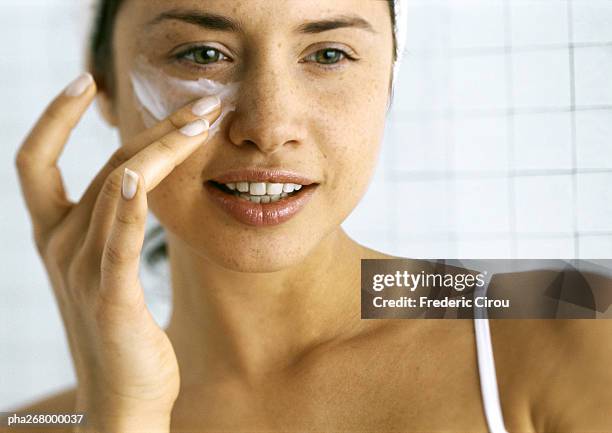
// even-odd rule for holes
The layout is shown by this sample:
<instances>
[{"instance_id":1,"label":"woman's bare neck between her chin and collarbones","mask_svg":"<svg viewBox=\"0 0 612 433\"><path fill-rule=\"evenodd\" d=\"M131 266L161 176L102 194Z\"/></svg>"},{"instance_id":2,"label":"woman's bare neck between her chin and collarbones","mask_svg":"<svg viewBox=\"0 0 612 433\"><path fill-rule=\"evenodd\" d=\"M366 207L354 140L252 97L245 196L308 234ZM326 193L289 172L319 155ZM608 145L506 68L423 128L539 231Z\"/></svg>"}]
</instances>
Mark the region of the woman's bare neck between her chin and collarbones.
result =
<instances>
[{"instance_id":1,"label":"woman's bare neck between her chin and collarbones","mask_svg":"<svg viewBox=\"0 0 612 433\"><path fill-rule=\"evenodd\" d=\"M223 378L249 383L360 326L360 259L367 249L339 228L303 262L241 273L168 234L173 313L167 333L183 386Z\"/></svg>"}]
</instances>

